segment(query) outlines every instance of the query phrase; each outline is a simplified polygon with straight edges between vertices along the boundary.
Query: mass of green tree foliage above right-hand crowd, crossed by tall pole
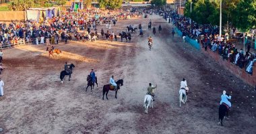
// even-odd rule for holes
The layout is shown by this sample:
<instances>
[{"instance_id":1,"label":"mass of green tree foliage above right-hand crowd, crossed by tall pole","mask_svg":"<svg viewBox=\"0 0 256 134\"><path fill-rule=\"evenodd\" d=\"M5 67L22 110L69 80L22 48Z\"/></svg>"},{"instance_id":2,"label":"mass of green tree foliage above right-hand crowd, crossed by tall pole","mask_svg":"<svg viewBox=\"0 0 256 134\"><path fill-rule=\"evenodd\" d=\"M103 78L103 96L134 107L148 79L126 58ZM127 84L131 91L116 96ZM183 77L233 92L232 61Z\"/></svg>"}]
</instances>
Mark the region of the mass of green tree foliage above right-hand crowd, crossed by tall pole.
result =
<instances>
[{"instance_id":1,"label":"mass of green tree foliage above right-hand crowd, crossed by tall pole","mask_svg":"<svg viewBox=\"0 0 256 134\"><path fill-rule=\"evenodd\" d=\"M220 1L191 0L185 5L185 16L197 23L219 25ZM222 0L222 25L233 25L241 31L256 28L256 0ZM228 26L230 28L230 26Z\"/></svg>"}]
</instances>

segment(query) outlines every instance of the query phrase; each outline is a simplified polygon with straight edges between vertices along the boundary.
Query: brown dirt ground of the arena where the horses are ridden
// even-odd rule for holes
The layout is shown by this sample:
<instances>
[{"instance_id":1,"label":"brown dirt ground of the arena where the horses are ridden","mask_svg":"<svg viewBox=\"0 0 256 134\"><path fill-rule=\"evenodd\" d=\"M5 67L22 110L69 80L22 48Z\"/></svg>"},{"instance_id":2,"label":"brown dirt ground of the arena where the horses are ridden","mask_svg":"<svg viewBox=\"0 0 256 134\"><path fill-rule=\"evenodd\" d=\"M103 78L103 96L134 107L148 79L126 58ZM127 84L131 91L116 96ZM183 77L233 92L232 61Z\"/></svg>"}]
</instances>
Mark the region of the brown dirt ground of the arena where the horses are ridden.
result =
<instances>
[{"instance_id":1,"label":"brown dirt ground of the arena where the horses are ridden","mask_svg":"<svg viewBox=\"0 0 256 134\"><path fill-rule=\"evenodd\" d=\"M162 25L152 35L148 22ZM0 133L256 133L255 90L211 58L170 36L172 25L158 15L117 21L110 31L142 24L145 36L132 42L70 42L55 45L63 54L49 58L46 46L4 50L0 97ZM104 27L104 26L102 26ZM98 27L100 32L101 27ZM104 27L106 31L106 27ZM154 46L148 50L147 38ZM120 41L120 39L119 39ZM75 64L71 81L59 74L65 61ZM96 70L98 89L85 92L86 76ZM102 100L102 86L111 75L124 79L115 98ZM190 89L179 107L179 84L186 78ZM154 109L143 113L148 83L158 84ZM232 94L230 119L218 125L222 90Z\"/></svg>"}]
</instances>

